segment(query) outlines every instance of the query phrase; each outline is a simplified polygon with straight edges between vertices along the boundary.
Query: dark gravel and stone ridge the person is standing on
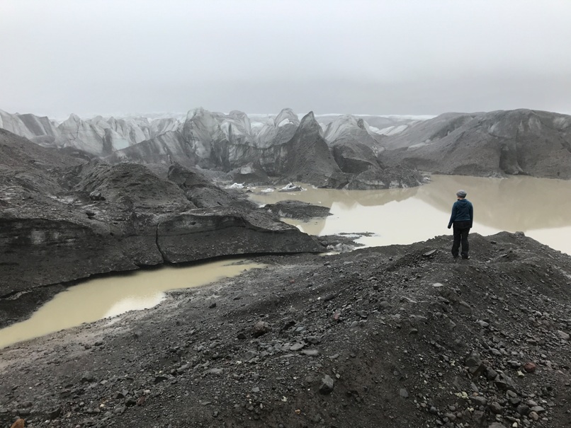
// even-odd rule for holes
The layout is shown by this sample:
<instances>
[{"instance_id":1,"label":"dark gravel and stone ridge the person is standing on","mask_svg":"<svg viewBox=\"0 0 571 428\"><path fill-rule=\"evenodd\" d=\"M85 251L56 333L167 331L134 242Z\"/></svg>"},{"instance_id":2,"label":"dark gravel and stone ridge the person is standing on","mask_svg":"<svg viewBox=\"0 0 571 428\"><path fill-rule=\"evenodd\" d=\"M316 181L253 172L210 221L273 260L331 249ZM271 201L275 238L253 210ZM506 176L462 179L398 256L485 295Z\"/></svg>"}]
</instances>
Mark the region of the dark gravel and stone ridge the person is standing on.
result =
<instances>
[{"instance_id":1,"label":"dark gravel and stone ridge the person is standing on","mask_svg":"<svg viewBox=\"0 0 571 428\"><path fill-rule=\"evenodd\" d=\"M571 426L571 258L521 233L449 245L259 257L2 349L0 426Z\"/></svg>"}]
</instances>

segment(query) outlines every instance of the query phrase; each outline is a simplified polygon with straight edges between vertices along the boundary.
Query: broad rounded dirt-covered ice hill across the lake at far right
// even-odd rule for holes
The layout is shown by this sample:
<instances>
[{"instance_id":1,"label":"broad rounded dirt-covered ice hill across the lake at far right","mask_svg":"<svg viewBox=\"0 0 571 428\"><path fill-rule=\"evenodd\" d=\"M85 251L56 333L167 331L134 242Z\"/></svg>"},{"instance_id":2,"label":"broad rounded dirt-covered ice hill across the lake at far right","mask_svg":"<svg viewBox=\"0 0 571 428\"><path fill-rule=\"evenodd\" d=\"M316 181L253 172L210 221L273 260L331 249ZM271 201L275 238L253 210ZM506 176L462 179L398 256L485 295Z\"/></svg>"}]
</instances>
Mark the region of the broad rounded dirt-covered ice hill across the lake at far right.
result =
<instances>
[{"instance_id":1,"label":"broad rounded dirt-covered ice hill across the lake at far right","mask_svg":"<svg viewBox=\"0 0 571 428\"><path fill-rule=\"evenodd\" d=\"M571 178L571 116L538 110L446 114L388 137L381 160L432 173Z\"/></svg>"}]
</instances>

